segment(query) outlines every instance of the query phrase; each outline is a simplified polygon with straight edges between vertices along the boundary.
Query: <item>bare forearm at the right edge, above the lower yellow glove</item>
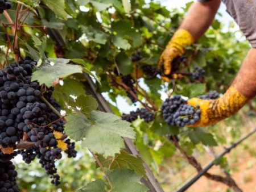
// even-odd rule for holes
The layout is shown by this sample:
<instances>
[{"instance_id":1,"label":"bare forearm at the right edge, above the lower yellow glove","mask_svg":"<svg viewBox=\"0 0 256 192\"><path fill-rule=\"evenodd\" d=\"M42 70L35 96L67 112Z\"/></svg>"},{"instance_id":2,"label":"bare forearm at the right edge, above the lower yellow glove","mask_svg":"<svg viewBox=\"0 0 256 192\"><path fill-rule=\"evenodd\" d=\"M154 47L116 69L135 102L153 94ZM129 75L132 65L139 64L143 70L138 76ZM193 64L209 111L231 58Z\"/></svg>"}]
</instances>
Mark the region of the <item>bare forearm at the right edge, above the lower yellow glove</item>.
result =
<instances>
[{"instance_id":1,"label":"bare forearm at the right edge, above the lower yellow glove","mask_svg":"<svg viewBox=\"0 0 256 192\"><path fill-rule=\"evenodd\" d=\"M245 97L256 95L256 49L251 48L232 84Z\"/></svg>"}]
</instances>

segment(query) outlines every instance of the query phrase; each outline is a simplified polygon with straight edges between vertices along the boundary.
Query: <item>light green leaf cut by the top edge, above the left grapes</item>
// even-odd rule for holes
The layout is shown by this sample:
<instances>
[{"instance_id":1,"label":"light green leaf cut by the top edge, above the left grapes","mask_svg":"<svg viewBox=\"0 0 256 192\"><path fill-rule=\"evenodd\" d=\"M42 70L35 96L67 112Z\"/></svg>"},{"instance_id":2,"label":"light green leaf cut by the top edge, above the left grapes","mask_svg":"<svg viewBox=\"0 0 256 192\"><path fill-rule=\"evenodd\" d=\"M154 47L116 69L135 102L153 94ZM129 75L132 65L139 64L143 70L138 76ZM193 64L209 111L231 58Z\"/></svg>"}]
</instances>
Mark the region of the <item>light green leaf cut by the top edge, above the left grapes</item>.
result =
<instances>
[{"instance_id":1,"label":"light green leaf cut by the top edge, above the left grapes","mask_svg":"<svg viewBox=\"0 0 256 192\"><path fill-rule=\"evenodd\" d=\"M67 19L67 12L65 11L65 1L64 0L42 0L57 16L61 19Z\"/></svg>"}]
</instances>

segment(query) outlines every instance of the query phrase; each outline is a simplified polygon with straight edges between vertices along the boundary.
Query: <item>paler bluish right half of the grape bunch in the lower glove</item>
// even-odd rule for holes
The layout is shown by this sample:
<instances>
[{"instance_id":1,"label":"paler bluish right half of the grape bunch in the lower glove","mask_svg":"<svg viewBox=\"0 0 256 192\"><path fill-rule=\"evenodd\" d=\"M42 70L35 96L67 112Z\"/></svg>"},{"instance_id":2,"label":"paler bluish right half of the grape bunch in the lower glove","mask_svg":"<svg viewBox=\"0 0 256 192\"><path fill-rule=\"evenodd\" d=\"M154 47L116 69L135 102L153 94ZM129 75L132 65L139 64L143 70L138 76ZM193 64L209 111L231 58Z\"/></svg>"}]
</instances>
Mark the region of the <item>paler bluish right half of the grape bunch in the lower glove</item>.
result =
<instances>
[{"instance_id":1,"label":"paler bluish right half of the grape bunch in the lower glove","mask_svg":"<svg viewBox=\"0 0 256 192\"><path fill-rule=\"evenodd\" d=\"M181 105L174 114L175 124L179 127L195 124L200 119L201 110L191 105Z\"/></svg>"}]
</instances>

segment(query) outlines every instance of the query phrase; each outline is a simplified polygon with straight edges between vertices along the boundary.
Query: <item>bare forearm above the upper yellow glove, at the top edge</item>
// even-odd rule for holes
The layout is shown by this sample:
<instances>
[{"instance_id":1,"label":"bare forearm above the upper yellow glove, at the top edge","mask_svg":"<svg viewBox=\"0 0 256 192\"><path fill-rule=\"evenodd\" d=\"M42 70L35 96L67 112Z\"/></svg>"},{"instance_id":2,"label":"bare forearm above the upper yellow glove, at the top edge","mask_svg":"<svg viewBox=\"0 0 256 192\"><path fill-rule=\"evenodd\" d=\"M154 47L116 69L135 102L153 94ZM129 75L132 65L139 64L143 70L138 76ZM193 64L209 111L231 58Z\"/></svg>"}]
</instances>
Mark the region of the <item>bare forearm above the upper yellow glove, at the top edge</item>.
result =
<instances>
[{"instance_id":1,"label":"bare forearm above the upper yellow glove, at the top edge","mask_svg":"<svg viewBox=\"0 0 256 192\"><path fill-rule=\"evenodd\" d=\"M219 6L220 0L193 3L179 28L187 30L193 36L194 41L197 41L212 24Z\"/></svg>"}]
</instances>

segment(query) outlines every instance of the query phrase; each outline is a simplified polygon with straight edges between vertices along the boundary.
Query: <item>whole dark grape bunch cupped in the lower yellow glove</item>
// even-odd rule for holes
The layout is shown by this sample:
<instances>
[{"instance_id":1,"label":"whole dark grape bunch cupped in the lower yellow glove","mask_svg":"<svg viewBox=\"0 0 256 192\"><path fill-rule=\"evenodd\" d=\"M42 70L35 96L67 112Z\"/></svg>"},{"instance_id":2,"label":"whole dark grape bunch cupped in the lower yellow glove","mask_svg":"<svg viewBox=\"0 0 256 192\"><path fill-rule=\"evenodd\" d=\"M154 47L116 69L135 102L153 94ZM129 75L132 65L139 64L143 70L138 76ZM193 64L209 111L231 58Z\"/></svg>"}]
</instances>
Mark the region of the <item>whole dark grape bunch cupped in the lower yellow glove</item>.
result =
<instances>
[{"instance_id":1,"label":"whole dark grape bunch cupped in the lower yellow glove","mask_svg":"<svg viewBox=\"0 0 256 192\"><path fill-rule=\"evenodd\" d=\"M180 95L167 98L161 106L163 118L168 125L184 127L195 124L200 119L199 105L187 105Z\"/></svg>"}]
</instances>

